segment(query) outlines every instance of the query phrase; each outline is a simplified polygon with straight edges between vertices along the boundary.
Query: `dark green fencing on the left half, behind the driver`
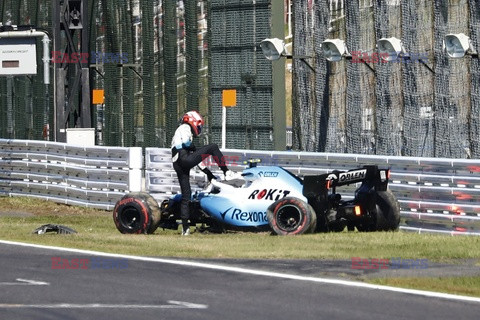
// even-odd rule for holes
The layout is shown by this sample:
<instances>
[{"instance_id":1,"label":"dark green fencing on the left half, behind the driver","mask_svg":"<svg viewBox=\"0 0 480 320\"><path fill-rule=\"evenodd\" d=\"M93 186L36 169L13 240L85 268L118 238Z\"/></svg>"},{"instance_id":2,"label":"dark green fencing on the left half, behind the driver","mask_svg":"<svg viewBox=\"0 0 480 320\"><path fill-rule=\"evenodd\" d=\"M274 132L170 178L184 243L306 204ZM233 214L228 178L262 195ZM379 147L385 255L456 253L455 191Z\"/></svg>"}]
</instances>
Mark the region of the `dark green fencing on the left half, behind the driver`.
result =
<instances>
[{"instance_id":1,"label":"dark green fencing on the left half, behind the driver","mask_svg":"<svg viewBox=\"0 0 480 320\"><path fill-rule=\"evenodd\" d=\"M52 5L68 1L1 0L0 22L42 27L52 35ZM105 96L104 103L92 105L97 144L167 147L181 115L192 109L207 119L203 139L220 144L221 93L235 88L238 105L229 110L227 146L273 147L272 68L258 48L270 36L270 0L84 4L90 87L104 90ZM41 46L37 48L36 76L0 78L2 138L54 137L53 85L45 92ZM64 108L72 112L72 107ZM47 123L48 137L43 130Z\"/></svg>"}]
</instances>

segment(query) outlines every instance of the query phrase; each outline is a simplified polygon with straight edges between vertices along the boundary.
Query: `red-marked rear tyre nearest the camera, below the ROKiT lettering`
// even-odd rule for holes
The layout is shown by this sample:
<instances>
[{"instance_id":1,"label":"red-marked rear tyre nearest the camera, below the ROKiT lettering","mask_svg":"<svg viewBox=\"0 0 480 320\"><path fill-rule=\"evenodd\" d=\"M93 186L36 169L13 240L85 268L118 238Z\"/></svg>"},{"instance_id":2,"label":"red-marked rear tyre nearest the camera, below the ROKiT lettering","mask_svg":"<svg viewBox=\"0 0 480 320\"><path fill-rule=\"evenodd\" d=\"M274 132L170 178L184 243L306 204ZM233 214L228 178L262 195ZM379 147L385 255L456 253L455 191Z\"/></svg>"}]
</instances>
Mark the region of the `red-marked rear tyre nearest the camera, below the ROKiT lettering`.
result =
<instances>
[{"instance_id":1,"label":"red-marked rear tyre nearest the camera, below the ROKiT lettering","mask_svg":"<svg viewBox=\"0 0 480 320\"><path fill-rule=\"evenodd\" d=\"M293 197L271 204L267 209L267 219L278 235L312 233L317 226L315 210L305 201Z\"/></svg>"}]
</instances>

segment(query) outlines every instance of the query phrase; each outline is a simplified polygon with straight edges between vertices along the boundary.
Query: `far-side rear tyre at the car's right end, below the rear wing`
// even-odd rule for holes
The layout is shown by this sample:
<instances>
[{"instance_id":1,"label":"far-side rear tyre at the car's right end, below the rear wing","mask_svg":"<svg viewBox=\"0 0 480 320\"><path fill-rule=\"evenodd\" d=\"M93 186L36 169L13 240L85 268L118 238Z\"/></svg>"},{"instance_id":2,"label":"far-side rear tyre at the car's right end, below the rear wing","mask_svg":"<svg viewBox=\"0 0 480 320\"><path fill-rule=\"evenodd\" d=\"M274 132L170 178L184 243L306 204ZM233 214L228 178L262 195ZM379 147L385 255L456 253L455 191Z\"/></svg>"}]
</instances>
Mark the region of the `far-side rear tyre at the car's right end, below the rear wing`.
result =
<instances>
[{"instance_id":1,"label":"far-side rear tyre at the car's right end, below the rear wing","mask_svg":"<svg viewBox=\"0 0 480 320\"><path fill-rule=\"evenodd\" d=\"M378 191L376 197L377 231L395 231L400 224L400 205L392 191Z\"/></svg>"}]
</instances>

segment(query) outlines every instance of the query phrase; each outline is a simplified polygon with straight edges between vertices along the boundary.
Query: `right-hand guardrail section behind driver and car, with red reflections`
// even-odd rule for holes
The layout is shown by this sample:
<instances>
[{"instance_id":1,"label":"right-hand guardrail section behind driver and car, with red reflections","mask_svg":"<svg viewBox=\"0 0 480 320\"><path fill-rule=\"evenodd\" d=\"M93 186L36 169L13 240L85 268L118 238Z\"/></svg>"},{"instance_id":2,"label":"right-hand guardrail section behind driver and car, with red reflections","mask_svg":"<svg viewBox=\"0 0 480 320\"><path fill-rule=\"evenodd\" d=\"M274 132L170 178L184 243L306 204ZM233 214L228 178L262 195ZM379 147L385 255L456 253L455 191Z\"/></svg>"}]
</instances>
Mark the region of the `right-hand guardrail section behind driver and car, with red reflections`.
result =
<instances>
[{"instance_id":1,"label":"right-hand guardrail section behind driver and car, with red reflections","mask_svg":"<svg viewBox=\"0 0 480 320\"><path fill-rule=\"evenodd\" d=\"M480 160L245 150L224 154L233 170L245 168L244 160L259 158L262 165L279 165L300 176L368 164L388 167L389 187L401 207L402 230L480 235ZM159 201L178 192L170 150L147 148L145 157L146 190ZM202 172L194 169L191 176L193 188L205 185ZM353 195L355 186L342 190Z\"/></svg>"}]
</instances>

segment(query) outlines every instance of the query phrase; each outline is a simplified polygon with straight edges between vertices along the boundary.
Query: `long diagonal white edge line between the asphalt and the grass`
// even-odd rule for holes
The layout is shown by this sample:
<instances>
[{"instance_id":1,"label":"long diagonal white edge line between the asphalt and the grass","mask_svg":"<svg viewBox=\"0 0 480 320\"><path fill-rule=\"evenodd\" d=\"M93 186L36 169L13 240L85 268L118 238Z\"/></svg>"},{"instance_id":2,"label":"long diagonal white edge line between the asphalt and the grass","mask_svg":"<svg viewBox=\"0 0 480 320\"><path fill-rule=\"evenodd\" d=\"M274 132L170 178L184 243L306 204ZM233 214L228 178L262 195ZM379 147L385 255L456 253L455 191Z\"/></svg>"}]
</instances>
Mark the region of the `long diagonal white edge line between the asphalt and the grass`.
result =
<instances>
[{"instance_id":1,"label":"long diagonal white edge line between the asphalt and the grass","mask_svg":"<svg viewBox=\"0 0 480 320\"><path fill-rule=\"evenodd\" d=\"M433 292L433 291L397 288L397 287L376 285L376 284L349 281L349 280L337 280L337 279L327 279L327 278L306 277L306 276L299 276L299 275L295 275L295 274L262 271L262 270L247 269L247 268L240 268L240 267L222 266L222 265L211 264L211 263L193 262L193 261L186 261L186 260L173 260L173 259L164 259L164 258L130 256L130 255L125 255L125 254L114 254L114 253L106 253L106 252L100 252L100 251L91 251L91 250L83 250L83 249L75 249L75 248L52 247L52 246L44 246L44 245L39 245L39 244L30 244L30 243L14 242L14 241L7 241L7 240L0 240L0 244L23 246L23 247L30 247L30 248L37 248L37 249L65 251L65 252L72 252L72 253L79 253L79 254L86 254L86 255L94 255L94 256L124 258L124 259L136 260L136 261L165 263L165 264L181 265L181 266L187 266L187 267L195 267L195 268L203 268L203 269L243 273L243 274L256 275L256 276L274 277L274 278L281 278L281 279L288 279L288 280L309 281L309 282L325 283L325 284L332 284L332 285L341 285L341 286L356 287L356 288L363 288L363 289L373 289L373 290L382 290L382 291L389 291L389 292L396 292L396 293L405 293L405 294L424 296L424 297L429 297L429 298L440 298L440 299L480 303L480 298L477 298L477 297L460 296L460 295L455 295L455 294Z\"/></svg>"}]
</instances>

